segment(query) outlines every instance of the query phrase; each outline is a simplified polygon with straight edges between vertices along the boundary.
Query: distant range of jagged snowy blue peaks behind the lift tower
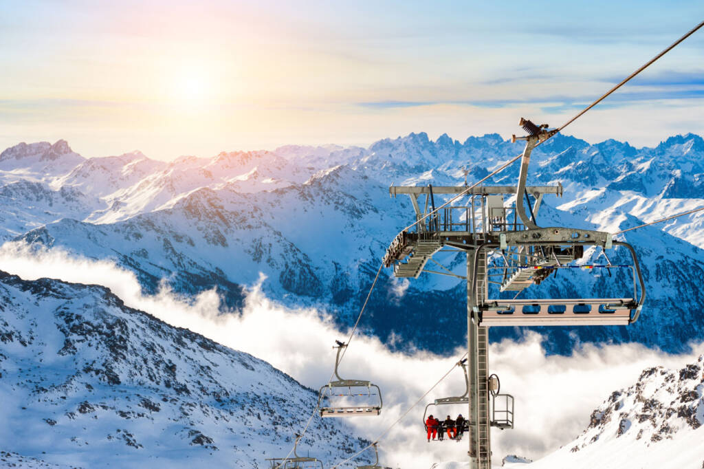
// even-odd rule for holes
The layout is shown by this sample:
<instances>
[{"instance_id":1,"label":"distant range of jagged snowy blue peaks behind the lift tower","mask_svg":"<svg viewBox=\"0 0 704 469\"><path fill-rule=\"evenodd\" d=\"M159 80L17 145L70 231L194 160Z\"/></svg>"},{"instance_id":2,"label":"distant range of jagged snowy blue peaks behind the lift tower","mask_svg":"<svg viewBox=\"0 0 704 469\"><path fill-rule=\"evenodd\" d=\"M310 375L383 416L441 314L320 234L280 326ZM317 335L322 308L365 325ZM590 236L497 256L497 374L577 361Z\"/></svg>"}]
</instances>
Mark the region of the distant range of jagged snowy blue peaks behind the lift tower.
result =
<instances>
[{"instance_id":1,"label":"distant range of jagged snowy blue peaks behind the lift tower","mask_svg":"<svg viewBox=\"0 0 704 469\"><path fill-rule=\"evenodd\" d=\"M49 151L54 146L61 151ZM113 259L149 292L164 278L187 294L218 287L230 307L240 304L243 285L264 273L272 298L320 306L340 325L356 316L386 246L413 217L406 198L389 199L389 185L460 185L465 168L471 182L522 150L499 135L460 143L447 135L432 141L425 133L368 149L284 146L171 163L139 152L85 160L65 142L54 146L20 144L0 158L0 216L7 220L1 239ZM40 149L54 159L37 156ZM570 220L617 231L704 205L703 158L704 141L691 134L643 149L558 135L532 159L531 184L565 187L562 199L543 201L539 223ZM508 168L494 182L515 183L517 170ZM694 280L704 273L703 224L704 214L696 213L623 235L643 258L649 288L643 318L650 320L541 330L548 349L637 341L679 351L703 338ZM460 273L460 258L448 262ZM596 278L589 287L581 283L571 287L585 294L600 284ZM422 275L400 282L384 271L372 300L363 327L382 339L436 351L463 342L460 280ZM674 329L663 333L657 326L663 323ZM520 334L496 328L492 339Z\"/></svg>"}]
</instances>

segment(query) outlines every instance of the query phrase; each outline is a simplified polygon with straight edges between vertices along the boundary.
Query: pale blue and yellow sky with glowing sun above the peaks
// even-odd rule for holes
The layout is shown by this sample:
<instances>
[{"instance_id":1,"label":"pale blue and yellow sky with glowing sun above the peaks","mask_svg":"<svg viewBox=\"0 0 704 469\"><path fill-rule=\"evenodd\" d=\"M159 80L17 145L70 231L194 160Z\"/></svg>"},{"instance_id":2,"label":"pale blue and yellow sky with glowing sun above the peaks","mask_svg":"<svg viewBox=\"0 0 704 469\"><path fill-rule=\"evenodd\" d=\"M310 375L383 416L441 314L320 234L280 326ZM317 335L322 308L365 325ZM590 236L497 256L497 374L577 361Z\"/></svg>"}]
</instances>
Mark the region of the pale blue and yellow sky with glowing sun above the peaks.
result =
<instances>
[{"instance_id":1,"label":"pale blue and yellow sky with glowing sun above the peaks","mask_svg":"<svg viewBox=\"0 0 704 469\"><path fill-rule=\"evenodd\" d=\"M213 156L558 126L704 19L700 1L0 0L0 149ZM570 126L704 134L704 30Z\"/></svg>"}]
</instances>

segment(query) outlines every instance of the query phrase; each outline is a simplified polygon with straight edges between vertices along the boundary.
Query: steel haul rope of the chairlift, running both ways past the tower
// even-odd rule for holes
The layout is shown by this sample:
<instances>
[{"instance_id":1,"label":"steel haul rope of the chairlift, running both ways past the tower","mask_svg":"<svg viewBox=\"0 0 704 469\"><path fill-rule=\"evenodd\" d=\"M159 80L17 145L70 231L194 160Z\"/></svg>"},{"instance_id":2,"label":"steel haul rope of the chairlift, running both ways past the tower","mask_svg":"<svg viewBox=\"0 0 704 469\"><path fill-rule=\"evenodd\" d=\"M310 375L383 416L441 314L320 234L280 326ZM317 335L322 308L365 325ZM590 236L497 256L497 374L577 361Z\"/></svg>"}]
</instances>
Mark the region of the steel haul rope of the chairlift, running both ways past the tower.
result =
<instances>
[{"instance_id":1,"label":"steel haul rope of the chairlift, running both ways past the tower","mask_svg":"<svg viewBox=\"0 0 704 469\"><path fill-rule=\"evenodd\" d=\"M615 87L613 87L612 89L610 89L608 92L606 92L605 94L603 94L603 96L601 96L599 99L597 99L597 100L594 101L592 104L590 104L589 106L587 106L586 108L584 108L581 112L579 112L577 115L575 115L572 119L568 120L567 123L565 123L565 124L563 124L562 126L558 127L558 129L557 129L558 132L560 132L562 129L564 129L565 127L567 127L567 125L570 125L571 123L573 123L574 120L577 120L577 118L579 118L579 117L581 117L582 115L584 115L584 113L586 113L586 111L589 111L591 108L593 108L594 106L596 106L597 104L599 104L599 103L600 103L601 101L603 101L603 99L605 99L607 96L609 96L610 94L612 94L613 92L615 92L617 89L619 89L620 87L622 87L623 85L625 85L625 84L626 84L627 82L629 82L629 80L631 80L633 77L635 77L636 75L638 75L639 73L641 73L643 70L645 70L646 68L648 68L648 66L650 66L652 63L654 63L655 61L657 61L658 58L664 56L665 54L667 54L667 52L669 52L669 51L671 51L672 49L674 49L675 46L677 46L678 44L680 44L680 43L681 43L682 41L684 41L684 39L686 39L687 37L691 36L694 32L696 32L697 30L699 30L700 27L702 27L702 26L704 26L704 21L702 21L701 23L699 23L698 25L696 25L695 27L693 27L693 29L689 30L689 32L687 32L684 36L682 36L682 37L680 37L679 39L677 39L677 41L675 41L674 43L672 43L669 47L667 47L667 49L665 49L665 50L663 50L662 52L660 52L660 54L658 54L657 56L655 56L655 57L653 57L652 59L650 59L650 61L648 61L645 65L641 66L641 68L639 68L638 70L636 70L634 73L631 73L631 75L629 75L629 76L626 77L624 80L622 80L622 82L620 82L618 85L616 85ZM548 139L550 139L550 138L553 137L554 135L557 135L557 132L555 132L555 134L553 134L553 135L550 135L548 138L546 138L546 139L544 139L544 140L541 140L541 142L538 142L538 144L536 144L536 146L539 146L540 144L543 144L544 142L547 142ZM486 177L483 177L481 180L479 180L479 181L477 181L477 182L474 182L473 185L471 185L470 187L467 187L465 190L463 190L463 192L460 192L460 193L457 194L456 196L452 197L451 199L449 199L448 201L446 201L444 204L442 204L441 206L435 208L433 211L427 213L426 215L424 215L424 216L423 216L422 218L420 218L419 220L416 220L415 223L411 223L411 224L408 225L407 227L403 228L403 230L401 230L401 231L403 232L403 231L406 231L406 230L410 230L410 228L412 228L412 227L414 227L415 225L417 225L418 223L422 222L423 220L425 220L426 218L428 218L430 215L433 215L434 213L437 213L438 211L440 211L441 208L445 208L446 206L448 206L449 204L451 204L453 201L459 199L459 198L462 197L462 196L465 196L466 194L468 194L468 193L470 192L471 189L474 189L474 187L477 187L478 185L482 184L482 182L488 180L489 177L492 177L492 176L494 176L494 175L497 175L498 173L501 173L501 171L505 170L505 168L508 168L509 165L511 165L512 163L514 163L514 162L517 161L518 159L520 159L522 156L523 156L523 154L520 154L520 155L515 156L514 158L511 158L509 161L503 163L503 165L501 165L499 168L497 168L496 170L494 170L493 172L491 172L489 175L486 175ZM701 210L701 209L704 209L704 207L703 207L703 208L699 208L699 209L697 209L697 210L695 210L695 211L698 211L698 210ZM692 212L689 212L689 213L692 213ZM686 213L683 213L683 214L681 214L681 215L686 215ZM677 215L677 216L679 216L679 215ZM671 217L671 218L674 218L674 217ZM665 220L659 220L659 221L665 221ZM654 223L659 223L659 222L648 223L648 225L653 225ZM642 225L642 226L647 226L647 225ZM638 227L636 227L636 228L638 228ZM634 230L634 229L635 229L635 228L630 228L629 230ZM622 232L629 231L629 230L624 230L624 231L622 231ZM622 233L622 232L615 233L615 234L618 235L618 234L620 234L620 233ZM366 306L367 306L367 301L369 301L369 298L370 298L370 296L371 296L371 294L372 294L372 290L374 289L375 284L377 283L377 279L379 278L379 273L381 273L382 267L383 267L383 263L382 263L382 265L379 265L379 270L377 270L377 275L376 275L376 277L375 277L375 279L374 279L374 282L372 282L372 287L370 288L370 292L369 292L369 294L367 294L367 299L365 300L365 302L364 302L364 304L363 304L363 306L362 306L362 308L361 308L361 310L360 310L359 316L358 316L358 318L357 318L357 322L355 323L355 325L354 325L354 327L353 327L353 330L352 330L352 332L351 332L351 334L350 334L350 337L349 337L349 339L348 339L348 344L349 344L349 342L351 341L354 332L356 331L356 328L357 328L357 325L358 325L358 323L359 323L359 320L360 320L360 318L362 317L362 314L363 314L363 312L364 312L364 310L365 310L365 308L366 308ZM342 351L342 356L344 356L344 351ZM451 370L450 370L450 371L451 371ZM423 399L430 391L432 391L432 389L433 389L437 384L439 384L440 381L444 380L444 378L445 378L449 373L450 373L450 372L448 371L448 373L446 373L446 375L445 375L444 377L442 377L436 384L434 384L433 387L432 387L431 389L429 389L429 391L428 391L427 393L423 394L423 396L421 396L420 399ZM333 375L334 375L334 373L333 373ZM333 375L330 375L330 380L332 380ZM411 406L411 407L408 409L408 411L406 411L406 413L404 413L403 415L401 415L401 418L399 418L398 420L396 420L396 422L394 422L394 423L391 425L391 427L394 427L394 425L396 425L396 423L400 422L401 419L402 419L403 417L405 417L406 414L408 414L408 412L410 412L410 410L418 404L418 402L420 402L420 399L419 399L415 404L413 404L413 406ZM319 407L320 407L320 399L318 399L318 404L315 406L315 409L313 409L313 413L310 415L310 418L308 418L308 422L306 423L306 426L303 428L303 432L301 432L301 434L298 436L298 438L302 437L303 434L305 434L306 430L308 430L308 426L310 425L310 422L313 420L313 417L315 416L315 413L318 411L318 408L319 408ZM389 427L384 433L382 433L382 435L380 435L379 438L377 438L377 440L375 441L375 443L379 442L379 440L382 439L382 438L386 435L386 433L389 432L389 430L391 430L391 427ZM365 449L370 448L370 446L372 446L372 445L367 446ZM295 446L294 446L294 448L295 448ZM289 458L289 456L291 456L291 453L293 453L294 448L291 448L291 451L289 451L289 454L287 454L286 458L284 458L284 461L282 461L282 464L287 461L287 459ZM363 449L363 451L364 451L365 449ZM361 451L360 451L360 453L361 453ZM340 463L340 464L343 464L343 463L346 463L347 461L350 461L350 459L352 459L352 458L358 456L360 453L358 453L358 454L352 456L351 458L348 458L346 461L343 461L343 462ZM338 466L339 466L339 464L338 464L338 465L334 465L334 466L332 467L332 469L334 469L334 468L336 468L336 467L338 467ZM282 466L279 465L279 467L282 467Z\"/></svg>"}]
</instances>

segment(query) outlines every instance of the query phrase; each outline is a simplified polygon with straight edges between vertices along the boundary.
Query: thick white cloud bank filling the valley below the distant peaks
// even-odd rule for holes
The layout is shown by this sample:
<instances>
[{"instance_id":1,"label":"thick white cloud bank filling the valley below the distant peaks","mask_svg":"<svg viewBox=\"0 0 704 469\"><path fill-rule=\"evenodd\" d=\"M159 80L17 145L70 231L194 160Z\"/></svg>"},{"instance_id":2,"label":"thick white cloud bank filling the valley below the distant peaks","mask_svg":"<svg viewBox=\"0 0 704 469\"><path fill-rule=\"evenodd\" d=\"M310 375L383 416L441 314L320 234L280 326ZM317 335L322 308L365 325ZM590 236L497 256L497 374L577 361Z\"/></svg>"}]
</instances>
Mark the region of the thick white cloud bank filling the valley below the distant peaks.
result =
<instances>
[{"instance_id":1,"label":"thick white cloud bank filling the valley below the distant peaks","mask_svg":"<svg viewBox=\"0 0 704 469\"><path fill-rule=\"evenodd\" d=\"M218 314L214 291L185 299L163 287L158 294L142 294L133 273L109 261L79 258L60 249L30 249L8 242L0 247L0 269L27 280L60 278L68 282L102 284L127 306L155 315L166 323L187 327L233 349L268 361L306 386L318 389L334 365L334 339L346 339L332 320L310 308L286 308L250 287L241 315ZM364 318L362 320L364 323ZM589 423L589 414L615 389L635 382L643 368L681 367L695 354L671 356L639 344L582 346L571 356L546 356L539 334L522 342L505 339L490 347L490 370L501 377L502 392L515 396L515 430L492 430L495 462L506 454L539 458L572 441ZM702 344L693 350L702 351ZM464 353L439 356L429 351L392 353L374 337L356 337L340 367L343 378L371 380L382 388L384 411L378 418L352 418L348 423L360 436L375 439L406 409L453 368ZM454 367L426 399L386 434L379 444L380 462L401 467L429 467L434 461L464 461L467 440L460 443L425 442L422 414L433 399L463 394L465 384ZM466 408L438 411L463 413ZM311 454L313 454L311 452ZM339 461L326 461L326 467Z\"/></svg>"}]
</instances>

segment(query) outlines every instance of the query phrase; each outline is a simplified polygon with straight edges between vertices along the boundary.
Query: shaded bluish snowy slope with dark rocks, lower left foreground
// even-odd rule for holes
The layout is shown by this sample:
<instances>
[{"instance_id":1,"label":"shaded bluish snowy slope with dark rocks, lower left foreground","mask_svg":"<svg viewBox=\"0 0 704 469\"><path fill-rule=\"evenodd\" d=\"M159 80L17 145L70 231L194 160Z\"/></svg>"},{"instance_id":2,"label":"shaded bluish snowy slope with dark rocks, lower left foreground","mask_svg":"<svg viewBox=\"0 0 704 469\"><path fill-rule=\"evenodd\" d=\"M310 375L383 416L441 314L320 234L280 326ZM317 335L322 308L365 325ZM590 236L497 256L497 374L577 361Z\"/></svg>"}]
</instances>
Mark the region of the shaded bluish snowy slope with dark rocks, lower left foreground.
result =
<instances>
[{"instance_id":1,"label":"shaded bluish snowy slope with dark rocks, lower left foreground","mask_svg":"<svg viewBox=\"0 0 704 469\"><path fill-rule=\"evenodd\" d=\"M0 272L0 465L268 467L317 393L258 358L127 308L110 290ZM313 420L298 453L367 442Z\"/></svg>"}]
</instances>

